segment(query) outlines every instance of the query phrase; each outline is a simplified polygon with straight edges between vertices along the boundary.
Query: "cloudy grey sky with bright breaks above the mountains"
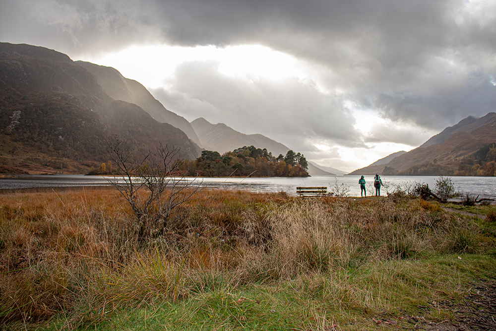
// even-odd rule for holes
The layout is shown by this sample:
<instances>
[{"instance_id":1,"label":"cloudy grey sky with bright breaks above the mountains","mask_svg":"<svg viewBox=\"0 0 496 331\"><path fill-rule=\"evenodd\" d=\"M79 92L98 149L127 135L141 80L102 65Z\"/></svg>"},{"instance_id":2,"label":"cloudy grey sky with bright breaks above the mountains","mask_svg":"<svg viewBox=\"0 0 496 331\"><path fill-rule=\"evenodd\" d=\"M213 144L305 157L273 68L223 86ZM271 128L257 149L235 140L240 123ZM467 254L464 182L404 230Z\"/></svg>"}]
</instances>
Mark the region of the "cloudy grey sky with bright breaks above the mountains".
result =
<instances>
[{"instance_id":1,"label":"cloudy grey sky with bright breaks above the mountains","mask_svg":"<svg viewBox=\"0 0 496 331\"><path fill-rule=\"evenodd\" d=\"M496 111L494 0L0 0L0 41L350 172Z\"/></svg>"}]
</instances>

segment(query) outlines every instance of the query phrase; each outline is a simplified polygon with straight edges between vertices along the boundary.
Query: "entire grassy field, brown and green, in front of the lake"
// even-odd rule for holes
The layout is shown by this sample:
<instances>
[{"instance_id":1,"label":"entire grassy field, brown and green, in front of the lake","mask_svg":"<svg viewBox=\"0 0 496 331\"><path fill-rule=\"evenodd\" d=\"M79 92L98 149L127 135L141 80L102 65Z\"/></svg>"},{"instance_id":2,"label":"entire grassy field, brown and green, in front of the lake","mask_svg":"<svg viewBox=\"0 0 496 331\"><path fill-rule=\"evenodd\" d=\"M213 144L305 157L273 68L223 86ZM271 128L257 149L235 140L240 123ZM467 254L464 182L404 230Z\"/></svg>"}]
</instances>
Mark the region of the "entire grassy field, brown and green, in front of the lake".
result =
<instances>
[{"instance_id":1,"label":"entire grassy field, brown and green, in front of the lake","mask_svg":"<svg viewBox=\"0 0 496 331\"><path fill-rule=\"evenodd\" d=\"M494 222L405 196L203 190L145 238L114 188L0 205L5 329L413 329L495 276Z\"/></svg>"}]
</instances>

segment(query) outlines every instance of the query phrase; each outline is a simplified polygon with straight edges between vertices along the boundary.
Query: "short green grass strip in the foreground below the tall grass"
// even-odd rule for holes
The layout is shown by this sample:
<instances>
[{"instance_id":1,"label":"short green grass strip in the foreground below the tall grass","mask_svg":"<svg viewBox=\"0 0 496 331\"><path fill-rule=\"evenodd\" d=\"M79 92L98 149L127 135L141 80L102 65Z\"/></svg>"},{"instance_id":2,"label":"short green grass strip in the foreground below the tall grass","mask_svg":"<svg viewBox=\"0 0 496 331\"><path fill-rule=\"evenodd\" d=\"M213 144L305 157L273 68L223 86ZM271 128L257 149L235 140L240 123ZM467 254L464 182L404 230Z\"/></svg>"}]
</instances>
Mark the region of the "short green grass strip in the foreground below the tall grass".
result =
<instances>
[{"instance_id":1,"label":"short green grass strip in the foreground below the tall grass","mask_svg":"<svg viewBox=\"0 0 496 331\"><path fill-rule=\"evenodd\" d=\"M176 303L144 303L102 315L80 330L328 330L332 325L370 330L377 327L373 320L381 319L412 328L409 316L423 314L435 322L452 318L439 304L460 301L472 282L494 276L495 269L495 260L480 255L378 262L351 273L225 286ZM59 315L43 328L67 325L70 321Z\"/></svg>"}]
</instances>

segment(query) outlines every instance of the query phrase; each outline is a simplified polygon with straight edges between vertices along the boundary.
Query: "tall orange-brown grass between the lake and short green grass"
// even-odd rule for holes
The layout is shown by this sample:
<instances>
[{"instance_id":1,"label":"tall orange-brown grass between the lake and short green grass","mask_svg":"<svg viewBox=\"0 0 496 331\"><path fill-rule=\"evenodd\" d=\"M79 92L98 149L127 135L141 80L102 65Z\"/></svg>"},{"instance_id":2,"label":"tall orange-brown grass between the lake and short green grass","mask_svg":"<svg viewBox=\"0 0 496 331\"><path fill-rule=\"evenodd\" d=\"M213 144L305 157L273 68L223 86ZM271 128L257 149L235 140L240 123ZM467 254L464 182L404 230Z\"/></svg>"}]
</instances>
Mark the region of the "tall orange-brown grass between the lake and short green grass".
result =
<instances>
[{"instance_id":1,"label":"tall orange-brown grass between the lake and short green grass","mask_svg":"<svg viewBox=\"0 0 496 331\"><path fill-rule=\"evenodd\" d=\"M8 194L0 203L0 317L13 323L65 314L67 330L126 308L290 279L302 287L317 279L305 293L343 310L380 311L380 286L359 289L346 276L319 275L483 252L480 243L490 243L479 240L474 224L417 199L203 191L173 215L164 235L148 240L136 236L132 211L112 189ZM314 320L310 330L331 323L318 314Z\"/></svg>"}]
</instances>

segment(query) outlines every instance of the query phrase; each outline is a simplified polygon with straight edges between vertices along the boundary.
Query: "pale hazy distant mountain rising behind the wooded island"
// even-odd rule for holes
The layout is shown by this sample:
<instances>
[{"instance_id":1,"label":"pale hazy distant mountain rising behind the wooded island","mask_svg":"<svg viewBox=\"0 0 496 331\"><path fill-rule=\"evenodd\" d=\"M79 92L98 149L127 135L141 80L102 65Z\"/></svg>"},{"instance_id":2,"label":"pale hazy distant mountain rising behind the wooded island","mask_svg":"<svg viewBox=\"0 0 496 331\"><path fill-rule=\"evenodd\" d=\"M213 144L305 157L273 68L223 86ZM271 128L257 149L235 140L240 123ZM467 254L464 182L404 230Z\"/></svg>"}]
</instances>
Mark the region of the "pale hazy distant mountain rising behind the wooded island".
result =
<instances>
[{"instance_id":1,"label":"pale hazy distant mountain rising behind the wooded island","mask_svg":"<svg viewBox=\"0 0 496 331\"><path fill-rule=\"evenodd\" d=\"M204 118L197 118L191 126L198 135L200 143L207 150L217 151L220 154L235 150L243 146L266 148L272 155L286 155L289 148L262 134L245 134L238 132L223 123L211 124Z\"/></svg>"}]
</instances>

